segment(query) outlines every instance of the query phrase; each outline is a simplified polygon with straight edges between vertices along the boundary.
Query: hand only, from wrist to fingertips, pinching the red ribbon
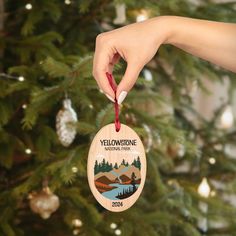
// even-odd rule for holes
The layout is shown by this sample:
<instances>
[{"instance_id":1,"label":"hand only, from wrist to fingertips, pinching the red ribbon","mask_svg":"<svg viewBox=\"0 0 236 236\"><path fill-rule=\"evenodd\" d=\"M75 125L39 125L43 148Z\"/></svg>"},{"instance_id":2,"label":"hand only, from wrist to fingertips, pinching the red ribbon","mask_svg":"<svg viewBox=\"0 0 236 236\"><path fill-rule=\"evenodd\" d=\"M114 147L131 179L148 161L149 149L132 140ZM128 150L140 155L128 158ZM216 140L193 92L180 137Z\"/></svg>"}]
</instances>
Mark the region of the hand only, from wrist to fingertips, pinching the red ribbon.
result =
<instances>
[{"instance_id":1,"label":"hand only, from wrist to fingertips, pinching the red ribbon","mask_svg":"<svg viewBox=\"0 0 236 236\"><path fill-rule=\"evenodd\" d=\"M114 102L115 94L106 78L106 72L112 73L120 58L127 62L125 74L116 91L116 99L121 104L140 71L166 40L166 30L161 25L162 18L131 24L97 36L93 75L111 101Z\"/></svg>"}]
</instances>

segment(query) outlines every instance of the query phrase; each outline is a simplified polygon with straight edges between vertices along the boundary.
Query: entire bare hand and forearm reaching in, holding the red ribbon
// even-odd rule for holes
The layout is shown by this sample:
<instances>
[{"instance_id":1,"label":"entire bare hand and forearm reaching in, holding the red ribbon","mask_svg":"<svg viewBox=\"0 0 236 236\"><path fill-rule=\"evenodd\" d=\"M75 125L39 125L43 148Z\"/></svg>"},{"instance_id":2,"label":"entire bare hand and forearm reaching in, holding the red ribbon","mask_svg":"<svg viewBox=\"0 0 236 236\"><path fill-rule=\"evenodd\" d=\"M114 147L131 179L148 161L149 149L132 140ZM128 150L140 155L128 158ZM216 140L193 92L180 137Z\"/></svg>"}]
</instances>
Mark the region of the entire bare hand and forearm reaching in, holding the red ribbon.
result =
<instances>
[{"instance_id":1,"label":"entire bare hand and forearm reaching in, holding the red ribbon","mask_svg":"<svg viewBox=\"0 0 236 236\"><path fill-rule=\"evenodd\" d=\"M98 35L93 75L109 99L115 94L106 78L120 57L127 62L126 72L117 87L121 104L136 82L144 65L161 44L182 50L236 72L236 24L161 16Z\"/></svg>"}]
</instances>

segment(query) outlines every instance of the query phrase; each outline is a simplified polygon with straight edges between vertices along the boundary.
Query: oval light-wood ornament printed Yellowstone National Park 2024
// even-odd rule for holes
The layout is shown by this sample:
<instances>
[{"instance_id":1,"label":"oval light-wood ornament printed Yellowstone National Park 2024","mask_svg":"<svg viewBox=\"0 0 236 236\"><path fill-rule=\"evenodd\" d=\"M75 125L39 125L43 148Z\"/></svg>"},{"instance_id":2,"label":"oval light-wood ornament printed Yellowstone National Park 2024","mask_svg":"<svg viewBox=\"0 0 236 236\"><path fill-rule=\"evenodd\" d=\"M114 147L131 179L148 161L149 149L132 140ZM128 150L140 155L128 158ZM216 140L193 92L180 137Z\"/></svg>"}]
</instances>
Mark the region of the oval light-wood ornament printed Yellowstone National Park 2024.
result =
<instances>
[{"instance_id":1,"label":"oval light-wood ornament printed Yellowstone National Park 2024","mask_svg":"<svg viewBox=\"0 0 236 236\"><path fill-rule=\"evenodd\" d=\"M131 207L142 192L146 156L138 135L121 124L103 127L95 136L88 157L88 181L97 201L110 211Z\"/></svg>"}]
</instances>

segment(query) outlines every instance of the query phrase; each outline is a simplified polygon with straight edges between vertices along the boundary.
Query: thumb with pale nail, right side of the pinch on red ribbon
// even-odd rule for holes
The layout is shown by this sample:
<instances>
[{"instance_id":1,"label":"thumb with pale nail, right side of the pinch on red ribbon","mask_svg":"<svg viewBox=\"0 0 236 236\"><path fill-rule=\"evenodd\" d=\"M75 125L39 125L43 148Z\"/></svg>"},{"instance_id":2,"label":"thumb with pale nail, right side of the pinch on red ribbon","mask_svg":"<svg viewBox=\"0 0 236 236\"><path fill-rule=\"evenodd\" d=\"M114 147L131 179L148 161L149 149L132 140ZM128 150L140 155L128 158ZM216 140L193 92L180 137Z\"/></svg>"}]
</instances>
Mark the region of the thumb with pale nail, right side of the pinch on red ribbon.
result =
<instances>
[{"instance_id":1,"label":"thumb with pale nail, right side of the pinch on red ribbon","mask_svg":"<svg viewBox=\"0 0 236 236\"><path fill-rule=\"evenodd\" d=\"M124 101L128 92L134 86L141 69L142 66L140 66L137 62L128 62L125 74L116 90L116 99L118 104L121 104Z\"/></svg>"}]
</instances>

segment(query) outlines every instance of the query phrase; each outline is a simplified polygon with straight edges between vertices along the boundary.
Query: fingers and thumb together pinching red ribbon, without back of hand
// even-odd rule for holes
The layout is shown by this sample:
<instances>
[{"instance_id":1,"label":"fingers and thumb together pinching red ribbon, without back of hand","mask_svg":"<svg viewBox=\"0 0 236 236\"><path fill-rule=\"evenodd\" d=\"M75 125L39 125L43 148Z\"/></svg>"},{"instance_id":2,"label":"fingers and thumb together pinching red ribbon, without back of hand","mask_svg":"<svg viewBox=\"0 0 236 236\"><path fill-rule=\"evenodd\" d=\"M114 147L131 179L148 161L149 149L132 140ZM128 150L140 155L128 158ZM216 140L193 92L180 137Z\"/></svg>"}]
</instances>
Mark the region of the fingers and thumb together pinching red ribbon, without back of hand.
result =
<instances>
[{"instance_id":1,"label":"fingers and thumb together pinching red ribbon, without back of hand","mask_svg":"<svg viewBox=\"0 0 236 236\"><path fill-rule=\"evenodd\" d=\"M111 39L108 38L106 33L100 34L97 37L93 61L93 76L95 77L98 86L105 93L105 95L112 102L115 102L116 97L118 104L121 104L124 101L127 93L135 84L143 67L142 63L140 63L140 58L137 58L136 56L133 56L133 59L130 58L132 53L127 53L126 57L124 52L122 55L123 59L127 59L127 68L118 87L116 82L113 81L117 87L115 95L106 77L106 72L112 74L114 65L118 63L121 56L119 55L118 51L116 51L115 46L112 45Z\"/></svg>"}]
</instances>

